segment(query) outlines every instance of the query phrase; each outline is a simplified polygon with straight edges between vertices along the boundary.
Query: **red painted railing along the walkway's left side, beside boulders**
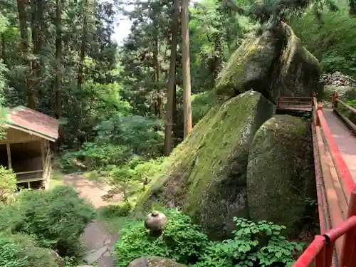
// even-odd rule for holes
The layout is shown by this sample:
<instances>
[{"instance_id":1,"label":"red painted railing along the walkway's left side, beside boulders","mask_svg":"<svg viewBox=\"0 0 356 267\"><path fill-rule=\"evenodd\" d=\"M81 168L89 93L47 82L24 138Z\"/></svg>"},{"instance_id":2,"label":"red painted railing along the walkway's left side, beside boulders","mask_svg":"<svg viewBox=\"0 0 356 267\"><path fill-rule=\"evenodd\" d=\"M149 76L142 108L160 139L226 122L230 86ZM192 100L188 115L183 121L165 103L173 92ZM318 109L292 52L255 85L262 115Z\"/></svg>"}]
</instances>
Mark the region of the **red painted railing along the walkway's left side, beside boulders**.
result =
<instances>
[{"instance_id":1,"label":"red painted railing along the walkway's left side, beside boulders","mask_svg":"<svg viewBox=\"0 0 356 267\"><path fill-rule=\"evenodd\" d=\"M333 103L337 103L337 98L333 99ZM318 189L318 206L320 216L320 230L321 235L315 236L314 241L308 248L304 251L302 256L298 258L293 267L306 267L309 266L313 261L315 262L315 267L330 267L333 265L333 253L337 251L337 258L339 259L339 266L356 267L356 187L355 182L353 182L352 176L350 174L347 165L345 164L340 151L337 148L335 140L331 135L328 124L325 120L323 114L323 105L317 103L317 100L313 98L313 140L318 144L314 144L314 148L318 148L318 153L320 157L321 169L323 169L323 160L325 157L322 155L324 143L330 152L330 157L333 160L334 167L337 171L337 177L342 186L342 190L345 194L344 201L347 201L347 220L342 219L340 214L342 199L338 199L337 192L333 188L333 177L331 175L324 175L323 172L323 182L325 183L324 188L320 185L319 170L315 167L315 176L317 179L317 189ZM316 155L316 152L315 152ZM315 159L318 164L318 160ZM326 166L328 167L328 166ZM331 183L331 185L330 185ZM322 192L323 190L324 192ZM322 206L324 208L322 208ZM328 209L329 214L326 214L325 209ZM325 216L330 215L331 226L329 224L328 229L330 231L325 232L327 226L324 224ZM325 219L328 221L328 219Z\"/></svg>"}]
</instances>

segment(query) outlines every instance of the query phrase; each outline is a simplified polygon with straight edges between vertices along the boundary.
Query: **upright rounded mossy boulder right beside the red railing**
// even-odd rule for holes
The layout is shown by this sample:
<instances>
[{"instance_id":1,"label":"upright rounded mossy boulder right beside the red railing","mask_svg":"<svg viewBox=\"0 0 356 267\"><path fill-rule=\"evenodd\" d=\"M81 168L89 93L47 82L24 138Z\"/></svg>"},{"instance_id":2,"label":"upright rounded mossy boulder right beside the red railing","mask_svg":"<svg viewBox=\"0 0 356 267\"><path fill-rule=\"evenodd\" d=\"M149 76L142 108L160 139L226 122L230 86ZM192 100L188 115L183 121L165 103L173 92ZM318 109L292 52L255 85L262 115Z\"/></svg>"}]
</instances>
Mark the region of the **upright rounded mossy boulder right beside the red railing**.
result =
<instances>
[{"instance_id":1,"label":"upright rounded mossy boulder right beside the red railing","mask_svg":"<svg viewBox=\"0 0 356 267\"><path fill-rule=\"evenodd\" d=\"M298 231L306 197L315 197L313 142L308 122L276 115L258 129L247 167L251 219Z\"/></svg>"}]
</instances>

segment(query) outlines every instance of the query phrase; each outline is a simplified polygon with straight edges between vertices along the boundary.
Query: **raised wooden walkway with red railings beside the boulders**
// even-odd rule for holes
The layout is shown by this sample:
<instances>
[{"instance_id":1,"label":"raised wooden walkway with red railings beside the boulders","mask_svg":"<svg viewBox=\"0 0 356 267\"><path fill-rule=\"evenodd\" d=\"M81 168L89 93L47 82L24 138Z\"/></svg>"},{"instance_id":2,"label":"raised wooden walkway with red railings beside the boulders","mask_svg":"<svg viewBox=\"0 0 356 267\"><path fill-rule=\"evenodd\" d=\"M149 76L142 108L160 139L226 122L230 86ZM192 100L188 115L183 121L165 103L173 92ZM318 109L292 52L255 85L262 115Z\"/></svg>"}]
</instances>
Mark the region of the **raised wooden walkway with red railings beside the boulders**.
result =
<instances>
[{"instance_id":1,"label":"raised wooden walkway with red railings beside the boulders","mask_svg":"<svg viewBox=\"0 0 356 267\"><path fill-rule=\"evenodd\" d=\"M277 110L311 112L320 235L294 267L356 267L356 125L339 108L356 109L334 93L333 108L313 98L277 98Z\"/></svg>"}]
</instances>

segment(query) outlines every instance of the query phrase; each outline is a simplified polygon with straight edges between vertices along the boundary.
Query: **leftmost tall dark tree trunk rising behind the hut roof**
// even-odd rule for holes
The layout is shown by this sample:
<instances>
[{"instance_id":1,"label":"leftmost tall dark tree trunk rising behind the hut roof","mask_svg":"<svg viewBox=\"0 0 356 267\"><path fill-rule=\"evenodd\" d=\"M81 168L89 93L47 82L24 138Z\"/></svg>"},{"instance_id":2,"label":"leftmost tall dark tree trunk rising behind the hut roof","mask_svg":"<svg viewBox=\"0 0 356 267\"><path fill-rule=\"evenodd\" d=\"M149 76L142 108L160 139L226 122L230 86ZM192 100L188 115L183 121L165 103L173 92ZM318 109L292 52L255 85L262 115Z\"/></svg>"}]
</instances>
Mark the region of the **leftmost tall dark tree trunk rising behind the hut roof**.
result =
<instances>
[{"instance_id":1,"label":"leftmost tall dark tree trunk rising behind the hut roof","mask_svg":"<svg viewBox=\"0 0 356 267\"><path fill-rule=\"evenodd\" d=\"M33 93L33 80L32 75L32 64L31 55L29 54L29 42L28 42L28 31L27 31L27 20L26 20L26 0L17 0L17 11L19 12L19 22L20 22L20 35L21 35L21 50L23 56L23 63L27 66L26 70L26 94L27 94L27 106L28 108L35 109L35 95Z\"/></svg>"}]
</instances>

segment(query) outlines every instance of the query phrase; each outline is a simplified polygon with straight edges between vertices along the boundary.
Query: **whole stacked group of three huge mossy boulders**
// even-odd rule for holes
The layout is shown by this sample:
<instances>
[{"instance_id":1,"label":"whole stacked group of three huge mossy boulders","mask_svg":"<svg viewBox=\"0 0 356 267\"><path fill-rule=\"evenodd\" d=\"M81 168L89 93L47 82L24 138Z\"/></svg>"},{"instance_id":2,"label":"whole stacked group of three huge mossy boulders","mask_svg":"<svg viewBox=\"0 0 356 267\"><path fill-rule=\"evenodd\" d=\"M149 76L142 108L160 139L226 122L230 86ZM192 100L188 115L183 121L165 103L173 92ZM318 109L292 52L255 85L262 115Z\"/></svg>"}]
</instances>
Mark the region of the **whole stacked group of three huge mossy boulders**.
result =
<instances>
[{"instance_id":1,"label":"whole stacked group of three huge mossy boulders","mask_svg":"<svg viewBox=\"0 0 356 267\"><path fill-rule=\"evenodd\" d=\"M310 125L276 115L274 103L280 95L311 97L320 73L285 23L247 38L217 79L224 103L166 159L136 210L180 206L211 239L229 238L234 216L298 232L304 199L315 197Z\"/></svg>"}]
</instances>

